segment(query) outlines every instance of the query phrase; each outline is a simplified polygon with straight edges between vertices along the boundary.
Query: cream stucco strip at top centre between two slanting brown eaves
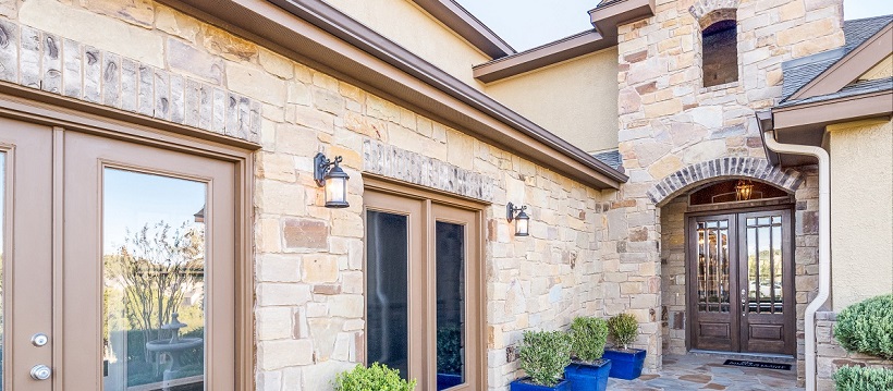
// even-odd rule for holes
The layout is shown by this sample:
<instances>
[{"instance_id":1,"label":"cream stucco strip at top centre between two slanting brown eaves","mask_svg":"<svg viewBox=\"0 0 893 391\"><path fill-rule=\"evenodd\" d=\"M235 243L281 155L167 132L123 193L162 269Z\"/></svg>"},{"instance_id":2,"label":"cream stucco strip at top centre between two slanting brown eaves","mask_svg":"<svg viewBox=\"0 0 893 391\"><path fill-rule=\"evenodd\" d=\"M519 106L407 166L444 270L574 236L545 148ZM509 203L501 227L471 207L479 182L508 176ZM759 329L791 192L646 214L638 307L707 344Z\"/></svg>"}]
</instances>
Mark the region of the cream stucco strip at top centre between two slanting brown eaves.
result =
<instances>
[{"instance_id":1,"label":"cream stucco strip at top centre between two slanting brown eaves","mask_svg":"<svg viewBox=\"0 0 893 391\"><path fill-rule=\"evenodd\" d=\"M386 38L475 88L472 66L490 58L411 0L327 0Z\"/></svg>"}]
</instances>

